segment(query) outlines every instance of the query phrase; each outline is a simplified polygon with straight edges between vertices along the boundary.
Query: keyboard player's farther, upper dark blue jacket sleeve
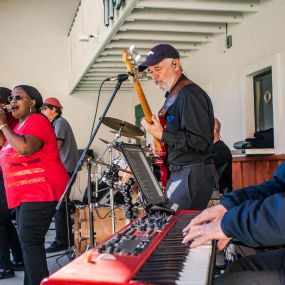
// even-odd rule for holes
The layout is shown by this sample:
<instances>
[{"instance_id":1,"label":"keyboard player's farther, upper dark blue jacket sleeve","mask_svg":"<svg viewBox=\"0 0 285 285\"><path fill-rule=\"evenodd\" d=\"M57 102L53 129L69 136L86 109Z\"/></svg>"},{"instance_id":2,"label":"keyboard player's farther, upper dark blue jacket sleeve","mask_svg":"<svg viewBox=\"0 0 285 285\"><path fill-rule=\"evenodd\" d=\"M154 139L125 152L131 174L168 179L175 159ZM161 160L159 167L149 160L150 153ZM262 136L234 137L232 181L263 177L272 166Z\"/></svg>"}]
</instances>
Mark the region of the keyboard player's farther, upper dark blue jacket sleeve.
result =
<instances>
[{"instance_id":1,"label":"keyboard player's farther, upper dark blue jacket sleeve","mask_svg":"<svg viewBox=\"0 0 285 285\"><path fill-rule=\"evenodd\" d=\"M263 200L282 192L285 192L285 162L276 169L272 179L226 194L221 198L221 204L229 210L248 200Z\"/></svg>"}]
</instances>

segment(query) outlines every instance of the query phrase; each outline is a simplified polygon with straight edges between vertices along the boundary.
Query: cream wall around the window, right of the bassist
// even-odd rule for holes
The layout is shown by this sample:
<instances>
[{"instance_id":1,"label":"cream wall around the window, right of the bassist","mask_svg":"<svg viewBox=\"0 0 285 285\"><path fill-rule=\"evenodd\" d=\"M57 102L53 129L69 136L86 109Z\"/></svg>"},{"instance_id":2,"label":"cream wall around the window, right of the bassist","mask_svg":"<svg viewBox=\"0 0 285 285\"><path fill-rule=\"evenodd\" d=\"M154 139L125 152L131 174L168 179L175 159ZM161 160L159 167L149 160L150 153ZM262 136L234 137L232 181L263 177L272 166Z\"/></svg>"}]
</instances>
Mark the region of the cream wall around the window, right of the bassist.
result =
<instances>
[{"instance_id":1,"label":"cream wall around the window, right of the bassist","mask_svg":"<svg viewBox=\"0 0 285 285\"><path fill-rule=\"evenodd\" d=\"M233 38L232 48L225 48L225 35L221 35L199 51L193 52L188 59L182 61L182 65L186 74L208 92L215 115L222 124L222 138L233 148L234 142L253 134L248 130L252 125L252 116L247 114L250 110L246 109L242 74L251 66L258 68L259 63L277 57L278 86L273 86L274 90L278 88L279 91L278 102L277 94L273 93L273 101L276 103L275 142L278 143L278 152L284 153L285 34L282 27L285 22L285 2L264 1L260 7L259 12L245 15L242 23L229 26L228 31ZM144 87L148 94L155 93L154 88L152 83ZM153 97L151 101L160 101L156 96ZM153 106L155 105L154 102Z\"/></svg>"}]
</instances>

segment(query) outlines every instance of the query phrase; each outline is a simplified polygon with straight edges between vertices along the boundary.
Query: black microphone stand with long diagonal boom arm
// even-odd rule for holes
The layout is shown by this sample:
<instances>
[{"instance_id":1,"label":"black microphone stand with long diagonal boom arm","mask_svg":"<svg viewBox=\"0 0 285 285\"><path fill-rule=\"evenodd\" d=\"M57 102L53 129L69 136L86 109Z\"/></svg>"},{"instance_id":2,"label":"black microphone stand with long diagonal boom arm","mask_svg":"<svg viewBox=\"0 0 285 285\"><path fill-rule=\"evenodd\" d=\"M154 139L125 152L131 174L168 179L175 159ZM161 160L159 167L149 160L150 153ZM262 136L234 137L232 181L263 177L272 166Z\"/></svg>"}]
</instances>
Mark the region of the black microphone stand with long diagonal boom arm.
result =
<instances>
[{"instance_id":1,"label":"black microphone stand with long diagonal boom arm","mask_svg":"<svg viewBox=\"0 0 285 285\"><path fill-rule=\"evenodd\" d=\"M59 210L59 208L61 207L63 201L65 199L67 199L67 196L69 195L69 192L70 192L70 187L71 187L71 185L73 183L73 180L75 180L75 177L76 177L79 169L81 168L81 165L83 163L85 155L88 152L88 150L89 150L89 148L90 148L90 146L91 146L91 144L92 144L92 142L93 142L93 140L94 140L94 138L95 138L95 136L96 136L100 126L101 126L101 124L102 124L103 119L106 117L106 114L107 114L107 112L108 112L108 110L109 110L109 108L110 108L110 106L111 106L111 104L112 104L112 102L113 102L117 92L119 91L123 81L125 81L125 80L127 80L127 78L122 78L121 80L118 78L118 82L117 82L117 84L115 86L115 90L114 90L114 92L113 92L113 94L112 94L112 96L111 96L111 98L110 98L110 100L109 100L109 102L108 102L108 104L107 104L107 106L106 106L102 116L99 118L99 122L98 122L98 124L97 124L97 126L96 126L96 128L95 128L95 130L93 132L93 134L91 135L87 146L83 150L83 152L81 154L81 157L79 158L79 160L77 162L76 168L75 168L75 170L72 173L72 176L68 180L68 183L67 183L67 185L65 187L65 190L64 190L60 200L58 201L58 203L56 205L56 210ZM93 204L92 204L92 201L91 201L91 186L90 186L90 179L89 178L88 178L87 191L88 191L87 197L88 197L88 204L89 204L89 221L90 221L90 247L94 247Z\"/></svg>"}]
</instances>

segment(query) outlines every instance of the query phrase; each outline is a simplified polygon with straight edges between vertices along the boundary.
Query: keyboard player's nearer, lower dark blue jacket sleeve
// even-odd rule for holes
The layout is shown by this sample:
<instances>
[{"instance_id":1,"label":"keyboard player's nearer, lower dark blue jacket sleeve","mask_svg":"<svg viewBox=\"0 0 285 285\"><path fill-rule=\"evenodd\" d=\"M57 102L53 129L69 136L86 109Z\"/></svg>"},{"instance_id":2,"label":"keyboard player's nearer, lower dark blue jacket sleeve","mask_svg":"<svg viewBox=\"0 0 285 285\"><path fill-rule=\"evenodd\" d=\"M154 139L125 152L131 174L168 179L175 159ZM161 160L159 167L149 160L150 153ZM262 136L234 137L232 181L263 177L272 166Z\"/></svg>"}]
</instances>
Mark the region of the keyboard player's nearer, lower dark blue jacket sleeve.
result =
<instances>
[{"instance_id":1,"label":"keyboard player's nearer, lower dark blue jacket sleeve","mask_svg":"<svg viewBox=\"0 0 285 285\"><path fill-rule=\"evenodd\" d=\"M230 209L221 227L226 236L249 246L281 245L285 244L284 217L285 192Z\"/></svg>"}]
</instances>

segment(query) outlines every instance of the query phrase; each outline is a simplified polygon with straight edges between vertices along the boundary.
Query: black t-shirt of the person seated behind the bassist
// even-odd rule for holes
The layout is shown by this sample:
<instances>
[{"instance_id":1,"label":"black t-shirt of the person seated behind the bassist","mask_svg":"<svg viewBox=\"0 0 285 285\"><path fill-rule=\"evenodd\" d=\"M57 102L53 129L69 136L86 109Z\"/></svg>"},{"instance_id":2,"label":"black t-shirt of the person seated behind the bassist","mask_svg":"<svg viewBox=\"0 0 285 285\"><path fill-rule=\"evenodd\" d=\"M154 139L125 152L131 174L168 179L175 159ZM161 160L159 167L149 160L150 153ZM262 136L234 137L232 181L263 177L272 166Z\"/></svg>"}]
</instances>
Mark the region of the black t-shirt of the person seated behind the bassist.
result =
<instances>
[{"instance_id":1,"label":"black t-shirt of the person seated behind the bassist","mask_svg":"<svg viewBox=\"0 0 285 285\"><path fill-rule=\"evenodd\" d=\"M228 188L227 191L232 191L232 153L223 141L217 141L213 146L216 152L213 160L218 176L220 174L219 169L222 170L222 167L227 163L226 168L219 177L220 192L223 193L225 188Z\"/></svg>"}]
</instances>

